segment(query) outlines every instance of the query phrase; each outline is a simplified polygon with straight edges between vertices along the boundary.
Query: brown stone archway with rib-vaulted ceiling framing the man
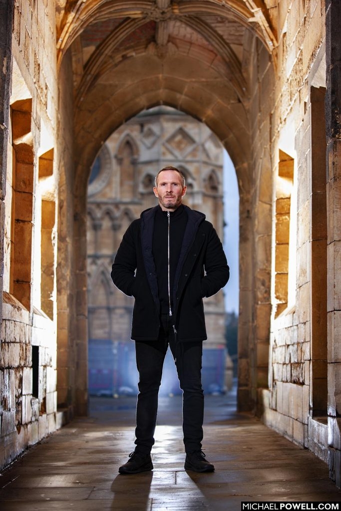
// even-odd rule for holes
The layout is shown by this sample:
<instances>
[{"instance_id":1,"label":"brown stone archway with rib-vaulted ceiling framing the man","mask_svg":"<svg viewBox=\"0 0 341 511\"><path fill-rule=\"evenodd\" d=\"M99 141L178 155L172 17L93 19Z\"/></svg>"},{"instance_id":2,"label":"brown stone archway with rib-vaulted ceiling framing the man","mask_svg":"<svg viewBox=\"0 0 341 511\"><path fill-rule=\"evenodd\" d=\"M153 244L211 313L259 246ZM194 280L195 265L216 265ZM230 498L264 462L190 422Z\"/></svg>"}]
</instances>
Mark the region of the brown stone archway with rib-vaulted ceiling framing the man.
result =
<instances>
[{"instance_id":1,"label":"brown stone archway with rib-vaulted ceiling framing the man","mask_svg":"<svg viewBox=\"0 0 341 511\"><path fill-rule=\"evenodd\" d=\"M110 6L105 1L76 2L60 20L59 72L66 74L67 67L72 66L75 98L73 261L77 321L73 349L77 360L82 360L74 385L77 413L85 413L87 402L86 268L82 254L90 167L113 131L156 105L174 107L205 123L222 142L236 169L240 254L248 268L240 275L240 356L245 364L240 375L239 407L254 409L256 389L264 378L258 378L253 327L258 277L252 264L257 214L252 119L259 107L252 86L258 71L253 66L261 61L260 72L272 77L276 66L276 55L272 55L276 37L264 12L253 2L247 8L244 2L231 8L213 0L176 5L169 0L146 1L138 7L131 2ZM231 28L234 38L229 35ZM270 217L267 225L271 226Z\"/></svg>"}]
</instances>

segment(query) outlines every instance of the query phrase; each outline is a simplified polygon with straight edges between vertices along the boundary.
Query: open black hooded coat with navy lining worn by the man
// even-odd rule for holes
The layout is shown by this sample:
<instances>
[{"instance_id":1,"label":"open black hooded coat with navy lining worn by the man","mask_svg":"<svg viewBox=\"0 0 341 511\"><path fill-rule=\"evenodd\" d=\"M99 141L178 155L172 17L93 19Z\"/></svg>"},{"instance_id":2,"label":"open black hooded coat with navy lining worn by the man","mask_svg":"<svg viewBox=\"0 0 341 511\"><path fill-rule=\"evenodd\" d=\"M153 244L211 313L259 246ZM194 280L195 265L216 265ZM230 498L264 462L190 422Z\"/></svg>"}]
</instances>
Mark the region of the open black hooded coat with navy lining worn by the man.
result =
<instances>
[{"instance_id":1,"label":"open black hooded coat with navy lining worn by the man","mask_svg":"<svg viewBox=\"0 0 341 511\"><path fill-rule=\"evenodd\" d=\"M135 298L131 338L137 341L156 340L160 329L160 301L152 254L158 207L145 210L130 224L111 270L112 282ZM184 207L188 222L175 272L172 317L179 341L200 341L207 339L202 298L224 287L230 270L213 225L202 213Z\"/></svg>"}]
</instances>

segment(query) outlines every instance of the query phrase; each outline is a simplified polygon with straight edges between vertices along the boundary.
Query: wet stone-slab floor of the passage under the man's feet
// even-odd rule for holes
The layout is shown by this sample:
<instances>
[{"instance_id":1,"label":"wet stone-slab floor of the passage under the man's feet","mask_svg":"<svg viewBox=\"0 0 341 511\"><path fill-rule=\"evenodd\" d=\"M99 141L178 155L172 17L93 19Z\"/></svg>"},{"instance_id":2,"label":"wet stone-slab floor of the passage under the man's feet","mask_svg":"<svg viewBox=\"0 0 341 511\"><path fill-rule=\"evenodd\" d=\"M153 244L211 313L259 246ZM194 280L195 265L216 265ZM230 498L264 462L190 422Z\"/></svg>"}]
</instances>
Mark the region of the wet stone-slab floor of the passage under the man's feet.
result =
<instances>
[{"instance_id":1,"label":"wet stone-slab floor of the passage under the man's feet","mask_svg":"<svg viewBox=\"0 0 341 511\"><path fill-rule=\"evenodd\" d=\"M0 477L1 511L226 511L241 501L340 502L312 453L235 411L235 395L208 396L204 449L216 471L185 472L181 398L162 397L154 470L124 476L135 398L93 398L90 416L32 447Z\"/></svg>"}]
</instances>

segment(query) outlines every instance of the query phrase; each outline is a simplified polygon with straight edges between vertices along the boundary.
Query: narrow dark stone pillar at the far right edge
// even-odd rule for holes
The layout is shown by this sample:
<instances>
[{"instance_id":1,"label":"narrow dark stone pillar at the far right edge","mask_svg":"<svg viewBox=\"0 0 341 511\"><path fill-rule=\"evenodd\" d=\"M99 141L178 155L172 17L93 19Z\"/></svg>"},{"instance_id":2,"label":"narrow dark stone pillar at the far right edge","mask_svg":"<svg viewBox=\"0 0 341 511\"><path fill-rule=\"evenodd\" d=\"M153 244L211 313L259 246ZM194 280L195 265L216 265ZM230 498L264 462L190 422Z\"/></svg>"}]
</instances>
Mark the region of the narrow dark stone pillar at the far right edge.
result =
<instances>
[{"instance_id":1,"label":"narrow dark stone pillar at the far right edge","mask_svg":"<svg viewBox=\"0 0 341 511\"><path fill-rule=\"evenodd\" d=\"M326 0L328 460L341 486L341 2Z\"/></svg>"}]
</instances>

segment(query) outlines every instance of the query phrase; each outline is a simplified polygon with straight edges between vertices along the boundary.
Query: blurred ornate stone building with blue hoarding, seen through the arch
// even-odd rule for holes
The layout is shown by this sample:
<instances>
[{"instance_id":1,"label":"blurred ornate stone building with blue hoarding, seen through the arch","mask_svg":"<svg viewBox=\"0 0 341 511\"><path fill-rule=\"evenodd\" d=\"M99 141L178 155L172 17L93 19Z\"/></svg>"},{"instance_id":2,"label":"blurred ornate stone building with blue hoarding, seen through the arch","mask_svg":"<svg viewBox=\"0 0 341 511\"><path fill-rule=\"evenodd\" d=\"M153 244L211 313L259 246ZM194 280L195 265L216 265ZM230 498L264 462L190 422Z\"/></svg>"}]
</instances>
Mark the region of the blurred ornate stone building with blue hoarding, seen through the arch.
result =
<instances>
[{"instance_id":1,"label":"blurred ornate stone building with blue hoarding, seen through the arch","mask_svg":"<svg viewBox=\"0 0 341 511\"><path fill-rule=\"evenodd\" d=\"M166 106L140 113L103 144L88 185L90 392L116 394L134 386L135 378L126 376L135 370L129 341L133 298L113 286L110 270L130 222L157 204L154 176L166 165L180 169L187 184L184 203L206 214L222 240L222 159L222 146L206 125ZM222 291L204 299L204 310L203 386L222 391L231 384L225 372ZM129 370L121 371L127 364Z\"/></svg>"}]
</instances>

